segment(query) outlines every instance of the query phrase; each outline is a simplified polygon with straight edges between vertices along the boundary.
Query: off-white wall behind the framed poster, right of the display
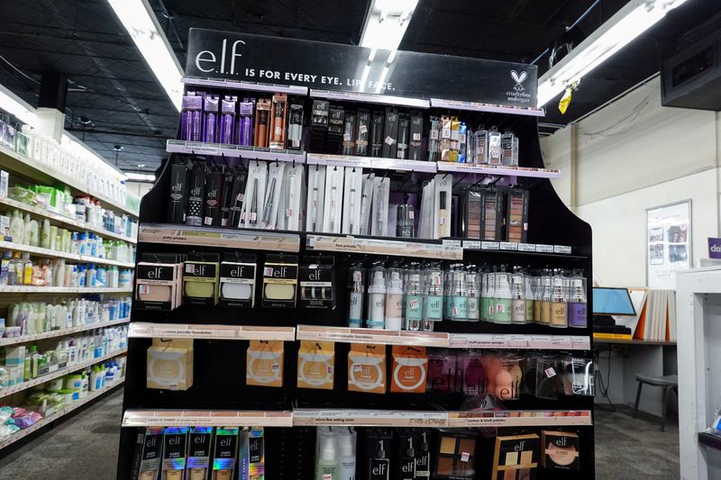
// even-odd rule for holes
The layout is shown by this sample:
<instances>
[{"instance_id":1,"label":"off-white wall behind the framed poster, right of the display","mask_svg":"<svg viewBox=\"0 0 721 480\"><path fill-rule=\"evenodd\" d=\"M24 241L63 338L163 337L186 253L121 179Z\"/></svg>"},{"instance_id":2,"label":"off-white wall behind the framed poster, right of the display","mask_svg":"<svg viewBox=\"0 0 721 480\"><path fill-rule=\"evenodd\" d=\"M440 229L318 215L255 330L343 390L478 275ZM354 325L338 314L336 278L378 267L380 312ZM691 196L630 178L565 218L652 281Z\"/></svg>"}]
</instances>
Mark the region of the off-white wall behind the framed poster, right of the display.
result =
<instances>
[{"instance_id":1,"label":"off-white wall behind the framed poster, right of the display","mask_svg":"<svg viewBox=\"0 0 721 480\"><path fill-rule=\"evenodd\" d=\"M646 209L691 200L692 255L718 236L718 115L661 106L658 77L542 139L553 186L593 228L602 285L646 285Z\"/></svg>"}]
</instances>

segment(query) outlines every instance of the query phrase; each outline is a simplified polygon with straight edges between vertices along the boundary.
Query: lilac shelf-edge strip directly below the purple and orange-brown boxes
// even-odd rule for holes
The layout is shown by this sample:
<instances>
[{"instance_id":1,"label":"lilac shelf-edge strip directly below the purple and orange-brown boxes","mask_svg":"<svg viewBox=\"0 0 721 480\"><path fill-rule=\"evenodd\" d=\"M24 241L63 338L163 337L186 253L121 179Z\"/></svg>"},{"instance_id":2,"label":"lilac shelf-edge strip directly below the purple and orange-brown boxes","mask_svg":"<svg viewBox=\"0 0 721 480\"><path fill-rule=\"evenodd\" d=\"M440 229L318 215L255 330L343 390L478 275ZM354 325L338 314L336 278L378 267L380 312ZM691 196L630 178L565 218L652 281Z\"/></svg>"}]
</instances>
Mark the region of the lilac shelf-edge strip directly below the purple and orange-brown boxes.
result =
<instances>
[{"instance_id":1,"label":"lilac shelf-edge strip directly below the purple and orange-brown boxes","mask_svg":"<svg viewBox=\"0 0 721 480\"><path fill-rule=\"evenodd\" d=\"M194 153L214 157L306 163L306 152L302 150L266 149L224 143L205 143L202 141L168 140L166 151L168 153Z\"/></svg>"}]
</instances>

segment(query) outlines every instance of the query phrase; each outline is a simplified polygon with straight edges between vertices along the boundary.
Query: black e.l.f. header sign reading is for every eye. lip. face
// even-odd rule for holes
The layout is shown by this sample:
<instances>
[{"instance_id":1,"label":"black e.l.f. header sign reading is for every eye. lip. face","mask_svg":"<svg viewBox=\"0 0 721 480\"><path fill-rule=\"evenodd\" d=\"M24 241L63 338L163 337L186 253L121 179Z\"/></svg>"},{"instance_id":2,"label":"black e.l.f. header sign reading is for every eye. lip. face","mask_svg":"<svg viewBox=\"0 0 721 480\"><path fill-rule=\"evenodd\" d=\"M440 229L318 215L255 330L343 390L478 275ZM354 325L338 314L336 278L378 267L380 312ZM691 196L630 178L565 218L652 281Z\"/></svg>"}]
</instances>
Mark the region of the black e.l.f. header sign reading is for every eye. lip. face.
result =
<instances>
[{"instance_id":1,"label":"black e.l.f. header sign reading is for every eye. lip. face","mask_svg":"<svg viewBox=\"0 0 721 480\"><path fill-rule=\"evenodd\" d=\"M190 29L186 76L535 108L534 65Z\"/></svg>"}]
</instances>

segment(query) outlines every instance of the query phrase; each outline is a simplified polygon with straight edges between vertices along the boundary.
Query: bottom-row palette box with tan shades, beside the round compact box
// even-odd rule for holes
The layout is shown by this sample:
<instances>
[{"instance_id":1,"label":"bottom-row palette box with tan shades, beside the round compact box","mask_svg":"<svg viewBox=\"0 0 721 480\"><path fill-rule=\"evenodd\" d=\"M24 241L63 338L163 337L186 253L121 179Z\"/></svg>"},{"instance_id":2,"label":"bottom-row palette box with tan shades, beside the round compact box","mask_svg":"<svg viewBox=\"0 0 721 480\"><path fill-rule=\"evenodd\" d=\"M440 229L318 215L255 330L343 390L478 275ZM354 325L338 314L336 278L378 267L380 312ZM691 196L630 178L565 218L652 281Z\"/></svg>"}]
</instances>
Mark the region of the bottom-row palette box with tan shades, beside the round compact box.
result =
<instances>
[{"instance_id":1,"label":"bottom-row palette box with tan shades, beside the round compact box","mask_svg":"<svg viewBox=\"0 0 721 480\"><path fill-rule=\"evenodd\" d=\"M493 480L534 480L540 439L535 433L496 437Z\"/></svg>"}]
</instances>

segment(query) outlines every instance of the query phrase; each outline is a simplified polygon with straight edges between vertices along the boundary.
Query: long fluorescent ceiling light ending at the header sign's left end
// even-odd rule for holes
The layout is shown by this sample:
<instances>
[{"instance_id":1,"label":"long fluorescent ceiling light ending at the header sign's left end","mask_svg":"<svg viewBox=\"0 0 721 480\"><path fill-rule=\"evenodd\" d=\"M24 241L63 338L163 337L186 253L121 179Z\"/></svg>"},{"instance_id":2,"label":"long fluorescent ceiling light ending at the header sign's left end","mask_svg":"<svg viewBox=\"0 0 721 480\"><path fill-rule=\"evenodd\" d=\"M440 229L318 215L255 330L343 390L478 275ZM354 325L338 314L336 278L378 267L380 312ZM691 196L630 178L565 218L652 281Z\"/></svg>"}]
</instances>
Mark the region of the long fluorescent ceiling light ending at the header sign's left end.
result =
<instances>
[{"instance_id":1,"label":"long fluorescent ceiling light ending at the header sign's left end","mask_svg":"<svg viewBox=\"0 0 721 480\"><path fill-rule=\"evenodd\" d=\"M152 73L180 112L183 69L147 0L107 0Z\"/></svg>"}]
</instances>

